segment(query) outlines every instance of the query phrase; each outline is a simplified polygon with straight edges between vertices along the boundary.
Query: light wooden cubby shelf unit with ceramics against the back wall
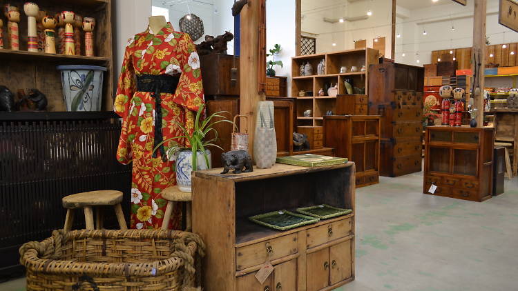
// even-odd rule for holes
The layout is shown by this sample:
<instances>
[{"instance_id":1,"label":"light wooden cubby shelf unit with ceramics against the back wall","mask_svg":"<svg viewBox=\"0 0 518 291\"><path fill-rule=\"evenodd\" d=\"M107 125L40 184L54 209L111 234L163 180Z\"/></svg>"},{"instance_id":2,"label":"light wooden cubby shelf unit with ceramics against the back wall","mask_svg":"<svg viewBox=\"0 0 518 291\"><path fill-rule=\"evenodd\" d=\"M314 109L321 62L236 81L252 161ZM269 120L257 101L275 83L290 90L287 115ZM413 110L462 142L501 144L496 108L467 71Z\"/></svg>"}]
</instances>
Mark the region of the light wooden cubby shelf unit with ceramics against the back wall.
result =
<instances>
[{"instance_id":1,"label":"light wooden cubby shelf unit with ceramics against the back wall","mask_svg":"<svg viewBox=\"0 0 518 291\"><path fill-rule=\"evenodd\" d=\"M314 71L318 63L325 59L325 74L300 76L300 65L309 62L313 66ZM378 63L378 50L372 48L362 48L357 50L344 50L341 52L332 52L329 54L310 54L306 56L293 57L291 59L291 96L297 97L297 125L298 126L322 126L323 116L328 110L335 111L336 97L316 96L318 90L324 88L325 83L338 83L338 94L347 94L344 81L346 78L352 79L354 87L365 88L365 94L368 94L367 80L369 75L369 66ZM347 72L340 74L342 66L351 70L352 66L356 66L361 70L365 65L365 72ZM298 97L298 92L311 91L313 96ZM327 93L326 93L327 94ZM312 117L304 117L304 111L311 110Z\"/></svg>"}]
</instances>

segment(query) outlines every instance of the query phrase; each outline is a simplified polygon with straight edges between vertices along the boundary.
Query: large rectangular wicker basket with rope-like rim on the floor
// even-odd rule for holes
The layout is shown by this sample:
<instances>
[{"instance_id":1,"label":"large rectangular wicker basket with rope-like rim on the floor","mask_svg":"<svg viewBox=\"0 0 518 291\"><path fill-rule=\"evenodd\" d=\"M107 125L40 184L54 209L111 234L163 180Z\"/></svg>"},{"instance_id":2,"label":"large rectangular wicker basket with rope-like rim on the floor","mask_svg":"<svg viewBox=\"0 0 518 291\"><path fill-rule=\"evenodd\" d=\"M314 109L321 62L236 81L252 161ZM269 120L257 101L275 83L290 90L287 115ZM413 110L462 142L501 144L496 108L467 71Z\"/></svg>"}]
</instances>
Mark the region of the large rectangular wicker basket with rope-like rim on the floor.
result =
<instances>
[{"instance_id":1,"label":"large rectangular wicker basket with rope-like rim on the floor","mask_svg":"<svg viewBox=\"0 0 518 291\"><path fill-rule=\"evenodd\" d=\"M55 230L25 243L27 290L196 290L204 243L171 230Z\"/></svg>"}]
</instances>

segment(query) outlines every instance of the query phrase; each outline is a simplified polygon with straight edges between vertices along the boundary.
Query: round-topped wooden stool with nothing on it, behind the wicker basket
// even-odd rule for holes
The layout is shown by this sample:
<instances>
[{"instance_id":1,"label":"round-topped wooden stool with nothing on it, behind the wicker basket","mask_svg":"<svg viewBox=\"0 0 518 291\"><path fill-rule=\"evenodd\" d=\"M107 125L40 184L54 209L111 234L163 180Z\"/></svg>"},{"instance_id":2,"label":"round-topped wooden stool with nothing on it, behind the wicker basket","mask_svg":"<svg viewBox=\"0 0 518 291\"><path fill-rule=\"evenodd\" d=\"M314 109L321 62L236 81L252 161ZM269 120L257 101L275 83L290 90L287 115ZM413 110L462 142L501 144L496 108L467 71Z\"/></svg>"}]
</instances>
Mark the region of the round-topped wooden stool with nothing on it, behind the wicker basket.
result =
<instances>
[{"instance_id":1,"label":"round-topped wooden stool with nothing on it, behind the wicker basket","mask_svg":"<svg viewBox=\"0 0 518 291\"><path fill-rule=\"evenodd\" d=\"M93 230L93 211L92 207L95 206L108 206L113 205L115 208L115 214L117 215L117 221L121 230L127 230L126 221L124 220L124 213L122 213L122 207L120 203L122 201L122 192L115 190L103 190L103 191L91 191L68 195L64 197L63 207L66 208L66 219L64 230L66 232L72 229L72 223L74 222L74 210L76 208L84 209L84 221L86 222L86 229ZM102 212L100 208L97 208L96 212L96 224L97 229L102 229Z\"/></svg>"}]
</instances>

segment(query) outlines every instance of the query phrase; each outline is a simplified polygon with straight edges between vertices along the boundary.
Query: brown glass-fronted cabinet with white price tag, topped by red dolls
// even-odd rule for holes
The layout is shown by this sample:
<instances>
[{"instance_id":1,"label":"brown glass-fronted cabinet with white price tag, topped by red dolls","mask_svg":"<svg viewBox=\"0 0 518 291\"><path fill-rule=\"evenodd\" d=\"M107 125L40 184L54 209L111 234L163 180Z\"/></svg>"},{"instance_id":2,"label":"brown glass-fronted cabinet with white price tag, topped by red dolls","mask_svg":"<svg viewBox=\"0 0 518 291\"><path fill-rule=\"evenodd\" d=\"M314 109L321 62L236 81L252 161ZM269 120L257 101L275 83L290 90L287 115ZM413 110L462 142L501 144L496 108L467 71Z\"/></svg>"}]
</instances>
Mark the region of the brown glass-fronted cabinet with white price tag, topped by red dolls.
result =
<instances>
[{"instance_id":1,"label":"brown glass-fronted cabinet with white price tag, topped by red dolls","mask_svg":"<svg viewBox=\"0 0 518 291\"><path fill-rule=\"evenodd\" d=\"M423 192L471 201L492 194L495 128L428 126Z\"/></svg>"}]
</instances>

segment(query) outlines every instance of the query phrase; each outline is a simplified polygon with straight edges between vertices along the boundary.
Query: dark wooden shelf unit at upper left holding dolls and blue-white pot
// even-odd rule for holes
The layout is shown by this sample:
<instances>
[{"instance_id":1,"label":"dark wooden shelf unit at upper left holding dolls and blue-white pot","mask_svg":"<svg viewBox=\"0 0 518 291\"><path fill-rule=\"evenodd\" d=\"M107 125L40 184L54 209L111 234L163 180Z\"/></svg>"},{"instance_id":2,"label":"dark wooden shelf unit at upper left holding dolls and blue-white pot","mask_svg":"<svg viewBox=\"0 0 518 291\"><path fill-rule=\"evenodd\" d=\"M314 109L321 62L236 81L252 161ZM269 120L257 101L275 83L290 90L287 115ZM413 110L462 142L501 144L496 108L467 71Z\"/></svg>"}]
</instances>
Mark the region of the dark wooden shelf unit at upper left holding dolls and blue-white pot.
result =
<instances>
[{"instance_id":1,"label":"dark wooden shelf unit at upper left holding dolls and blue-white pot","mask_svg":"<svg viewBox=\"0 0 518 291\"><path fill-rule=\"evenodd\" d=\"M82 17L95 18L94 50L96 57L70 56L65 54L47 54L45 52L27 51L27 17L23 13L25 1L12 0L10 5L17 6L21 11L19 22L20 50L0 50L0 83L7 86L14 94L18 90L36 88L46 94L48 111L66 111L61 72L56 66L91 65L107 68L103 82L103 108L111 111L113 108L113 47L112 47L112 4L111 0L40 0L40 10L48 15L71 10ZM9 48L6 26L4 26L4 48ZM81 34L82 30L81 30ZM84 54L84 35L81 35L81 52Z\"/></svg>"}]
</instances>

